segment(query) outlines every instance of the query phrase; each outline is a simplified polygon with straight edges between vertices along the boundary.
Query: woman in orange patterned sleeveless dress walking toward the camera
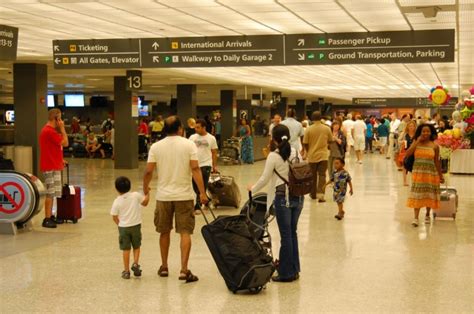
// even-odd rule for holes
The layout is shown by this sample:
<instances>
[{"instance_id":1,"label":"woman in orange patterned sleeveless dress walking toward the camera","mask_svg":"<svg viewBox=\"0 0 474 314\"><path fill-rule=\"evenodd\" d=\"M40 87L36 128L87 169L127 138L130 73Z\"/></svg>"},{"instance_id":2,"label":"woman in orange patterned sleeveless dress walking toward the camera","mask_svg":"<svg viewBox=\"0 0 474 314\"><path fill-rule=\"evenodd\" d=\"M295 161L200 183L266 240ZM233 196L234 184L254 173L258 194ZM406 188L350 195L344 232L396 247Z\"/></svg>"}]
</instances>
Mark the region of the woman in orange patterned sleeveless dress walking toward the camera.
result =
<instances>
[{"instance_id":1,"label":"woman in orange patterned sleeveless dress walking toward the camera","mask_svg":"<svg viewBox=\"0 0 474 314\"><path fill-rule=\"evenodd\" d=\"M416 129L415 142L406 156L415 155L412 185L407 206L414 209L412 225L418 227L420 209L426 207L425 224L430 223L430 211L439 208L440 183L444 182L439 160L439 146L434 142L436 129L431 124L422 124Z\"/></svg>"}]
</instances>

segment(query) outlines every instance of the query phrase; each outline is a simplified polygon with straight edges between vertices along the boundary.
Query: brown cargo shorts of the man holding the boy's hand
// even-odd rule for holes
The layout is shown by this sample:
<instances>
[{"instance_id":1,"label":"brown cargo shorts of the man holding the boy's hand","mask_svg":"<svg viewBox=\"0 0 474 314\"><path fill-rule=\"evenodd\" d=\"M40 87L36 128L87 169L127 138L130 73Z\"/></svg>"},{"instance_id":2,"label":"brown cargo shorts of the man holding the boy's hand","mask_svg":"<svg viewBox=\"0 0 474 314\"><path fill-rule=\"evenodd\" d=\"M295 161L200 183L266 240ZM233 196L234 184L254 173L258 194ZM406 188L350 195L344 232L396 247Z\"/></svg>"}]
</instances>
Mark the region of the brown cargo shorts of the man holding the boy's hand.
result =
<instances>
[{"instance_id":1,"label":"brown cargo shorts of the man holding the boy's hand","mask_svg":"<svg viewBox=\"0 0 474 314\"><path fill-rule=\"evenodd\" d=\"M173 230L175 217L176 233L193 234L196 220L194 218L194 201L156 201L155 227L159 233Z\"/></svg>"}]
</instances>

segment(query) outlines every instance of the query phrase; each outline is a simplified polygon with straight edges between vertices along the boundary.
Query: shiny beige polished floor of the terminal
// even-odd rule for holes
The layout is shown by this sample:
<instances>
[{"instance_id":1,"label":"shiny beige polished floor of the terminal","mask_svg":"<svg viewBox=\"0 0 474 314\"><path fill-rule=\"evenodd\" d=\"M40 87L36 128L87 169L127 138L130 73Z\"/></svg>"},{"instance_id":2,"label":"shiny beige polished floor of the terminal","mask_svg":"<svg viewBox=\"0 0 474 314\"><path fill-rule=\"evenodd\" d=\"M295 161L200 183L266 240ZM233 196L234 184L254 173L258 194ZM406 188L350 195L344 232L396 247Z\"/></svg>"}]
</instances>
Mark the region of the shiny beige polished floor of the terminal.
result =
<instances>
[{"instance_id":1,"label":"shiny beige polished floor of the terminal","mask_svg":"<svg viewBox=\"0 0 474 314\"><path fill-rule=\"evenodd\" d=\"M259 295L233 295L220 277L197 218L190 268L200 281L183 284L178 237L173 236L171 276L156 275L158 236L150 205L144 210L141 279L123 280L117 230L109 215L113 180L126 175L135 189L139 170L114 170L110 160L71 160L72 182L83 188L84 219L56 230L40 227L16 237L0 236L0 312L474 312L474 176L451 176L460 195L456 221L411 227L404 206L407 188L393 162L367 156L348 162L355 194L344 221L335 204L306 200L299 223L302 274L298 282L271 283ZM221 167L245 186L263 162ZM330 193L328 190L328 199ZM153 204L153 202L151 203ZM220 209L218 214L234 214ZM275 252L279 236L271 226Z\"/></svg>"}]
</instances>

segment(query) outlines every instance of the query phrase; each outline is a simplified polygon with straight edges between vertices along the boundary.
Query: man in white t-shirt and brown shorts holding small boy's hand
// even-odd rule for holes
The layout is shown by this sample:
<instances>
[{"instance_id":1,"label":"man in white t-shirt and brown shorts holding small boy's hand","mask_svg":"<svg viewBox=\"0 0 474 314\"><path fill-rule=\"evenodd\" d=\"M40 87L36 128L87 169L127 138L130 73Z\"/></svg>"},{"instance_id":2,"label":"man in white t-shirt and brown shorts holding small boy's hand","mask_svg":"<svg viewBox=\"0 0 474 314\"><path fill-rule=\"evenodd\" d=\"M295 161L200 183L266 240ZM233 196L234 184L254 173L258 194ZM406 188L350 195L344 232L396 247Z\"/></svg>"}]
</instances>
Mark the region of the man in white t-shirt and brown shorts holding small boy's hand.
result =
<instances>
[{"instance_id":1,"label":"man in white t-shirt and brown shorts holding small boy's hand","mask_svg":"<svg viewBox=\"0 0 474 314\"><path fill-rule=\"evenodd\" d=\"M160 233L161 267L160 277L168 277L168 252L170 234L173 229L173 216L176 219L176 232L181 236L181 272L180 280L197 281L188 269L191 252L191 234L194 231L194 200L192 180L196 182L200 202L207 204L208 199L201 169L199 168L197 148L190 140L182 137L183 125L177 116L165 120L166 138L156 142L148 153L148 163L143 177L143 190L146 192L157 169L157 193L155 226Z\"/></svg>"}]
</instances>

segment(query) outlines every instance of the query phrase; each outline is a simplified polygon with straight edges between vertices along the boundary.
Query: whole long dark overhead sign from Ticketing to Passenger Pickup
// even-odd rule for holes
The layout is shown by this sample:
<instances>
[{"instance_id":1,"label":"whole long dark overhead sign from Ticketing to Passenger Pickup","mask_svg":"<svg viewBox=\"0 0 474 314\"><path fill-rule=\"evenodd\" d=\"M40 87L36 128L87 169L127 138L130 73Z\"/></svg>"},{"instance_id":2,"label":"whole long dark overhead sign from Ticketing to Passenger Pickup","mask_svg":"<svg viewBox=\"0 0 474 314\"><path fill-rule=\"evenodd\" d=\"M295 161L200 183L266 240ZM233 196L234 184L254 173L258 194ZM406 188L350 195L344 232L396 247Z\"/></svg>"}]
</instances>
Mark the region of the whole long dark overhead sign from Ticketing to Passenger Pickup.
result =
<instances>
[{"instance_id":1,"label":"whole long dark overhead sign from Ticketing to Passenger Pickup","mask_svg":"<svg viewBox=\"0 0 474 314\"><path fill-rule=\"evenodd\" d=\"M454 62L454 30L53 41L57 69Z\"/></svg>"}]
</instances>

